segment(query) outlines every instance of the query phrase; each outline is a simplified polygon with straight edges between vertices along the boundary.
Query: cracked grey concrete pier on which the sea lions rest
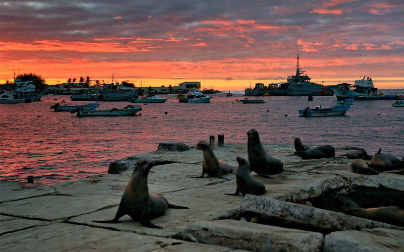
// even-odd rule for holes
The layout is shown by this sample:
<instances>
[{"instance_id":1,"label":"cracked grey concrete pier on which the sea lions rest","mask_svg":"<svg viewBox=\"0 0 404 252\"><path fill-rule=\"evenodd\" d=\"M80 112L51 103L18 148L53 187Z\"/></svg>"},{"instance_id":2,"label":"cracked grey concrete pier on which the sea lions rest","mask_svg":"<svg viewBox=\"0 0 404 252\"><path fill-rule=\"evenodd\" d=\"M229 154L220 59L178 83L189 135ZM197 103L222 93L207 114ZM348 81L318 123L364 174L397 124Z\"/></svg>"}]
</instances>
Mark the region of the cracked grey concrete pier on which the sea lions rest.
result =
<instances>
[{"instance_id":1,"label":"cracked grey concrete pier on which the sea lions rest","mask_svg":"<svg viewBox=\"0 0 404 252\"><path fill-rule=\"evenodd\" d=\"M244 197L224 195L235 191L233 174L225 176L228 181L209 176L190 178L200 175L203 163L203 153L190 147L177 151L166 146L117 160L105 168L119 174L53 185L0 181L0 250L404 250L404 227L312 205L316 202L313 199L327 192L343 197L358 188L387 188L402 200L404 176L350 171L352 158L367 155L360 148L334 146L334 158L302 160L293 154L292 144L264 144L270 155L283 161L284 171L271 175L274 179L252 172L264 182L267 193ZM246 144L225 144L213 151L236 171L235 157L247 158L246 148ZM155 162L148 176L149 193L161 193L171 204L189 209L168 209L164 216L151 220L162 229L143 227L129 216L118 223L92 222L115 216L133 164L141 158Z\"/></svg>"}]
</instances>

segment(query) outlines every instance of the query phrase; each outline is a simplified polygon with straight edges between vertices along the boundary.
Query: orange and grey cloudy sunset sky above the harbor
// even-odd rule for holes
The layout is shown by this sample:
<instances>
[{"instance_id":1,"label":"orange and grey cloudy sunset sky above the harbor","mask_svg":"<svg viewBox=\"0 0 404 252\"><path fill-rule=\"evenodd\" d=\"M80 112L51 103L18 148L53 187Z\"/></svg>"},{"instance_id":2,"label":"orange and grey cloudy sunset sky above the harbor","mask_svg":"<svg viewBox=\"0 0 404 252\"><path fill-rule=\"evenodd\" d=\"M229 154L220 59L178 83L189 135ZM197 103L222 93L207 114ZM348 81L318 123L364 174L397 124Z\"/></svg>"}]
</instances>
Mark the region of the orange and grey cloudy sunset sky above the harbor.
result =
<instances>
[{"instance_id":1,"label":"orange and grey cloudy sunset sky above the harbor","mask_svg":"<svg viewBox=\"0 0 404 252\"><path fill-rule=\"evenodd\" d=\"M0 15L0 83L15 69L241 91L286 81L299 53L314 82L404 88L402 0L2 0Z\"/></svg>"}]
</instances>

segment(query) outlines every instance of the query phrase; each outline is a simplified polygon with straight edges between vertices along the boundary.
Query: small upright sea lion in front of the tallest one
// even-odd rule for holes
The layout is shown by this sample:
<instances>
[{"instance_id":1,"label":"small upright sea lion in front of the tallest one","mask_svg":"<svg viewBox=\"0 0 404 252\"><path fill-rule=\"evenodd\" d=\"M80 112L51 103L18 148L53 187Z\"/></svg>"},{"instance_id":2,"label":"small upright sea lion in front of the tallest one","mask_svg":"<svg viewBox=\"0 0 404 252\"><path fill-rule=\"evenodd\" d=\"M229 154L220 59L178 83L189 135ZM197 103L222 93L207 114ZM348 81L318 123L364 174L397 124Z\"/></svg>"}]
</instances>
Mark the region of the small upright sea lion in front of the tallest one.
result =
<instances>
[{"instance_id":1,"label":"small upright sea lion in front of the tallest one","mask_svg":"<svg viewBox=\"0 0 404 252\"><path fill-rule=\"evenodd\" d=\"M236 192L234 194L225 195L239 195L239 193L241 193L242 195L265 194L265 184L251 176L248 161L241 157L236 157L236 160L238 163L238 169L236 172Z\"/></svg>"}]
</instances>

